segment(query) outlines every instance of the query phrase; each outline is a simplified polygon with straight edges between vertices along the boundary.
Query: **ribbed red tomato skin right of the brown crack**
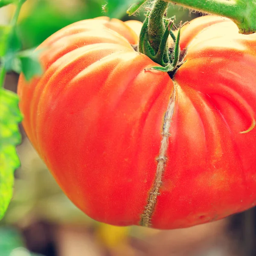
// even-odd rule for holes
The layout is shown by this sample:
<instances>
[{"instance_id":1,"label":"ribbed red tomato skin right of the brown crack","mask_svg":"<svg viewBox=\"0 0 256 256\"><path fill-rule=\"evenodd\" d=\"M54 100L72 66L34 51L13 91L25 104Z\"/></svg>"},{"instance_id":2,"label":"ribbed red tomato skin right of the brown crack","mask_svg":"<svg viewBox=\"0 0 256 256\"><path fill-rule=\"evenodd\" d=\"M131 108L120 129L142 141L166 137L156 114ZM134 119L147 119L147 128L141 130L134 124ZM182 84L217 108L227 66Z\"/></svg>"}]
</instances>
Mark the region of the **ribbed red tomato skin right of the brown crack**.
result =
<instances>
[{"instance_id":1,"label":"ribbed red tomato skin right of the brown crack","mask_svg":"<svg viewBox=\"0 0 256 256\"><path fill-rule=\"evenodd\" d=\"M185 63L174 82L169 161L152 216L157 227L188 227L256 203L256 34L221 17L183 28ZM169 210L166 210L167 207Z\"/></svg>"}]
</instances>

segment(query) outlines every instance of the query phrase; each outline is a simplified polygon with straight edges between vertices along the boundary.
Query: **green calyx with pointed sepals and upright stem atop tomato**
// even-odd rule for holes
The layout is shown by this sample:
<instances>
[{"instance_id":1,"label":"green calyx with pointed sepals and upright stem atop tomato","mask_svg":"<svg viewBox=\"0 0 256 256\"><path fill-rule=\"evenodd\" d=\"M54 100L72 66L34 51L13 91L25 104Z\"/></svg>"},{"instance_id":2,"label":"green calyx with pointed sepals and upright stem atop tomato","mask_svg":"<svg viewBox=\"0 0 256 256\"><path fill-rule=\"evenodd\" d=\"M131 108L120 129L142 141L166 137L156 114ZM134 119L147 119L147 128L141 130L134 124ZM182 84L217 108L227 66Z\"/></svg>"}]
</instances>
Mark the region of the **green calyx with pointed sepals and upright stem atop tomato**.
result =
<instances>
[{"instance_id":1,"label":"green calyx with pointed sepals and upright stem atop tomato","mask_svg":"<svg viewBox=\"0 0 256 256\"><path fill-rule=\"evenodd\" d=\"M148 70L161 70L171 72L175 70L180 57L180 28L177 36L172 32L175 27L174 19L166 19L168 3L156 0L152 9L146 15L140 32L139 52L147 55L151 60L160 64L161 67L151 67ZM168 39L171 36L173 46L169 49Z\"/></svg>"}]
</instances>

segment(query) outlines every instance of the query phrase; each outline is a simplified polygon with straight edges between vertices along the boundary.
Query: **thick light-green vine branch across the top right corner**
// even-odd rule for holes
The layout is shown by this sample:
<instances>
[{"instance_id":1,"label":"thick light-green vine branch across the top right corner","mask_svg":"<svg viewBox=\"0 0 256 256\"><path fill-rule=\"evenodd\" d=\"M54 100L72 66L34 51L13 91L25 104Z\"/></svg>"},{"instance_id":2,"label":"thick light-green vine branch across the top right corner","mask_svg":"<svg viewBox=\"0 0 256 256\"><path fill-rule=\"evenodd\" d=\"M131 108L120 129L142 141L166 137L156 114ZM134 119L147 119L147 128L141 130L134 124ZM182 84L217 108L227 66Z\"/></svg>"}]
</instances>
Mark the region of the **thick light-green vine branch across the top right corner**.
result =
<instances>
[{"instance_id":1,"label":"thick light-green vine branch across the top right corner","mask_svg":"<svg viewBox=\"0 0 256 256\"><path fill-rule=\"evenodd\" d=\"M256 32L255 0L166 0L180 6L228 17L239 27L242 34Z\"/></svg>"}]
</instances>

